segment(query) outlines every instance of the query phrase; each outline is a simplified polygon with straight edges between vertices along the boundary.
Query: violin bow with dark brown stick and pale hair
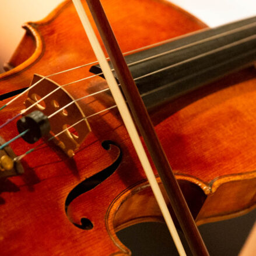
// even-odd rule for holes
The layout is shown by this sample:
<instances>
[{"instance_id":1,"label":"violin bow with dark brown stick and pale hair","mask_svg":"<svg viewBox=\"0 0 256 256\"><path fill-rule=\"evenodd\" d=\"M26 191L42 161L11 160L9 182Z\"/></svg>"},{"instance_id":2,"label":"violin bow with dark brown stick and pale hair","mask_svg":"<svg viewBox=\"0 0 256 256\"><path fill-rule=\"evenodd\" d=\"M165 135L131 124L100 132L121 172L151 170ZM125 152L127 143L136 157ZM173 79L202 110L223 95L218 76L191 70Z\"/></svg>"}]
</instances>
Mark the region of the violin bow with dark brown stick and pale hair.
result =
<instances>
[{"instance_id":1,"label":"violin bow with dark brown stick and pale hair","mask_svg":"<svg viewBox=\"0 0 256 256\"><path fill-rule=\"evenodd\" d=\"M117 103L118 109L120 110L122 119L125 123L125 126L127 127L128 133L131 137L138 157L141 160L143 169L145 170L153 193L155 194L157 203L159 204L159 207L163 213L163 217L166 220L166 224L170 230L171 236L173 237L174 243L176 244L178 253L180 255L186 255L180 238L178 237L173 220L171 219L170 212L166 203L164 202L162 192L160 191L159 185L157 184L152 167L150 166L148 157L146 156L141 140L139 139L138 132L136 131L131 115L129 114L128 107L113 76L113 73L111 72L110 66L107 63L99 41L94 34L89 19L87 18L85 10L83 9L83 5L80 0L72 1L78 12L83 27L85 28L87 37L89 38L94 53L99 61L108 86L110 87L111 93L113 94L114 100ZM86 2L89 6L90 12L92 13L101 39L103 40L103 43L106 47L110 61L114 66L115 72L117 73L118 80L131 109L132 116L134 117L136 125L138 126L139 131L141 132L141 135L146 143L149 154L153 159L153 163L155 164L157 172L162 180L164 189L167 192L171 206L178 219L178 222L180 223L181 229L183 230L185 238L187 239L192 254L194 256L207 256L209 253L205 247L204 241L202 240L201 234L197 229L197 225L195 225L194 218L191 215L190 209L188 208L187 203L183 197L176 177L171 170L169 161L163 151L159 139L157 138L153 124L150 121L148 111L143 104L134 79L132 78L131 72L129 71L129 68L125 62L120 47L108 22L104 9L101 6L99 0L86 0ZM148 170L150 171L148 172Z\"/></svg>"}]
</instances>

